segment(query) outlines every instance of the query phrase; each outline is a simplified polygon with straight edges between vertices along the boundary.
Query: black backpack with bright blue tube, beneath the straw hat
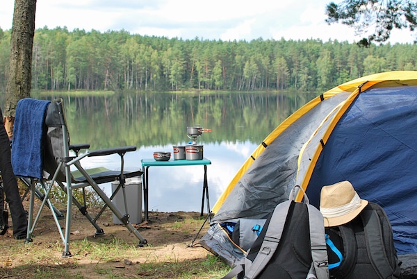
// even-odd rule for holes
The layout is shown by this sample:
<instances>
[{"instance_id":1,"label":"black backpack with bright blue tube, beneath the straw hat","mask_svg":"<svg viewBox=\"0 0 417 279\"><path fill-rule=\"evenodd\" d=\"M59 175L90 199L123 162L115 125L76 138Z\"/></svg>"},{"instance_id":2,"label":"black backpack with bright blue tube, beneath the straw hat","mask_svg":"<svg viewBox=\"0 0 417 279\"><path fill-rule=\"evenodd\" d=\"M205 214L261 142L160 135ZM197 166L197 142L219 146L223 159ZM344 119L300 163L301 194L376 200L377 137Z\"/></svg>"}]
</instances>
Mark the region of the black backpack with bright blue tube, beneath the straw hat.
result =
<instances>
[{"instance_id":1,"label":"black backpack with bright blue tube, beneath the straw hat","mask_svg":"<svg viewBox=\"0 0 417 279\"><path fill-rule=\"evenodd\" d=\"M391 223L376 203L368 203L349 223L325 231L330 278L400 277L401 263L395 251Z\"/></svg>"}]
</instances>

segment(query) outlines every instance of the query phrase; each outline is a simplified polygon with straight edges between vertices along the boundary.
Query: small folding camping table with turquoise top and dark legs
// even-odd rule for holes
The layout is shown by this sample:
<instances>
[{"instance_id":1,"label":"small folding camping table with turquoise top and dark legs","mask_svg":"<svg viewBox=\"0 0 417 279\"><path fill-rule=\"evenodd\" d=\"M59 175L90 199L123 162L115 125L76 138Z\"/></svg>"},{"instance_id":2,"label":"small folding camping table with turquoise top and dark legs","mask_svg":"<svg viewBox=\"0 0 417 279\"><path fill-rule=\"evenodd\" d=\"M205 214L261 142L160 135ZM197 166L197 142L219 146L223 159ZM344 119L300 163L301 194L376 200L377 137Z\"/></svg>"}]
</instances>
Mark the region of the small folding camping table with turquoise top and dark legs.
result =
<instances>
[{"instance_id":1,"label":"small folding camping table with turquoise top and dark legs","mask_svg":"<svg viewBox=\"0 0 417 279\"><path fill-rule=\"evenodd\" d=\"M207 165L211 164L211 161L207 158L202 160L169 160L169 161L156 161L152 159L142 159L142 168L143 168L143 178L142 178L142 187L143 187L143 203L145 208L145 221L148 219L148 189L149 189L149 167L175 167L175 166L195 166L203 165L204 166L204 181L203 181L203 197L202 197L202 212L204 212L204 199L207 202L207 214L208 221L210 221L210 202L208 200L208 183L207 183Z\"/></svg>"}]
</instances>

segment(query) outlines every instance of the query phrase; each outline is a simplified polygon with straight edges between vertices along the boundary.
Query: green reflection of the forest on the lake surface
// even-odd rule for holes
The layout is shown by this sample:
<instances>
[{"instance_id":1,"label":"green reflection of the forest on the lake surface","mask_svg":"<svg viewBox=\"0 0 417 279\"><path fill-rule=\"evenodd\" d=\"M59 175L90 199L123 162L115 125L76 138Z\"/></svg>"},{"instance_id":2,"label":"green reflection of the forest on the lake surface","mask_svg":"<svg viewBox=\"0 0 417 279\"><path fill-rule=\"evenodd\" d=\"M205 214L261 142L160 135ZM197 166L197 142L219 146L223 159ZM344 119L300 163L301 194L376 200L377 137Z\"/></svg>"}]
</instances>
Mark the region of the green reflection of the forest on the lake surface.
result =
<instances>
[{"instance_id":1,"label":"green reflection of the forest on the lake surface","mask_svg":"<svg viewBox=\"0 0 417 279\"><path fill-rule=\"evenodd\" d=\"M205 142L259 143L310 99L312 94L295 92L64 97L73 139L95 149L180 143L187 140L187 126L211 128Z\"/></svg>"}]
</instances>

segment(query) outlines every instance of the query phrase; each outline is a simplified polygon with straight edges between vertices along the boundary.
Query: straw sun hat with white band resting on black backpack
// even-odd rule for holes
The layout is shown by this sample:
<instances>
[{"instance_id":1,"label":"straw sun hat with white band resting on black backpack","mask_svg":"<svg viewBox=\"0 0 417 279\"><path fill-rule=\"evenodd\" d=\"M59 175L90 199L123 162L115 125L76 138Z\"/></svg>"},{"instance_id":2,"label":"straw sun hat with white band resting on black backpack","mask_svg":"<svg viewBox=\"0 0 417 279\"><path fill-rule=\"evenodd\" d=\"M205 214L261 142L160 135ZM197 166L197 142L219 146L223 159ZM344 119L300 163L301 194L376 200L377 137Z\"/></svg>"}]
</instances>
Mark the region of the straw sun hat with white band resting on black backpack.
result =
<instances>
[{"instance_id":1,"label":"straw sun hat with white band resting on black backpack","mask_svg":"<svg viewBox=\"0 0 417 279\"><path fill-rule=\"evenodd\" d=\"M343 225L357 217L368 201L359 198L349 181L324 186L320 193L320 212L325 227Z\"/></svg>"}]
</instances>

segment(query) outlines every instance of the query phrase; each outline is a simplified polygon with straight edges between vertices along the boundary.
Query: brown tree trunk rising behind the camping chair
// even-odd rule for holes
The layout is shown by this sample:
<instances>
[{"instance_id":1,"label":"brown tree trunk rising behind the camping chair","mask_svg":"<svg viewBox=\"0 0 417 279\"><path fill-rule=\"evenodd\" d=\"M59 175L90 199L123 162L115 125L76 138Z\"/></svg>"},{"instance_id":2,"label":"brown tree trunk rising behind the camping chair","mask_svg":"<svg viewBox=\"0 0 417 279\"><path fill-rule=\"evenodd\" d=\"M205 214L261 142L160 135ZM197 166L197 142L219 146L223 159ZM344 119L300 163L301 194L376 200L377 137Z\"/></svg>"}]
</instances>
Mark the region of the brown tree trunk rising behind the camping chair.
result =
<instances>
[{"instance_id":1,"label":"brown tree trunk rising behind the camping chair","mask_svg":"<svg viewBox=\"0 0 417 279\"><path fill-rule=\"evenodd\" d=\"M10 40L9 76L3 112L4 124L9 138L13 137L17 102L31 96L35 10L36 0L15 0Z\"/></svg>"}]
</instances>

